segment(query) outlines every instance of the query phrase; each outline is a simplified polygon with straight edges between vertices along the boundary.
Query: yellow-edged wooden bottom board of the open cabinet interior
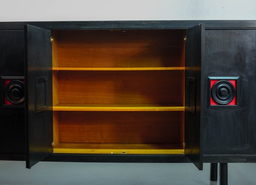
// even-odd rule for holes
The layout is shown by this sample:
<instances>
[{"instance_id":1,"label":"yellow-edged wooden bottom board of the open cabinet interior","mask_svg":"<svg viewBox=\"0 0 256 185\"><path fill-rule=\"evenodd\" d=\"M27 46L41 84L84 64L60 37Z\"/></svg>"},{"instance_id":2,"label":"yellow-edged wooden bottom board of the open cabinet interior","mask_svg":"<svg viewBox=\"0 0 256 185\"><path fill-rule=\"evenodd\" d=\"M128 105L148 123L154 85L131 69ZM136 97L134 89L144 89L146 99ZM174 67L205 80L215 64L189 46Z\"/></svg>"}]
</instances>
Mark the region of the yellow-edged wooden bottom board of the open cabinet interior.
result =
<instances>
[{"instance_id":1,"label":"yellow-edged wooden bottom board of the open cabinet interior","mask_svg":"<svg viewBox=\"0 0 256 185\"><path fill-rule=\"evenodd\" d=\"M60 142L53 153L61 154L184 154L179 144L147 143L65 143Z\"/></svg>"}]
</instances>

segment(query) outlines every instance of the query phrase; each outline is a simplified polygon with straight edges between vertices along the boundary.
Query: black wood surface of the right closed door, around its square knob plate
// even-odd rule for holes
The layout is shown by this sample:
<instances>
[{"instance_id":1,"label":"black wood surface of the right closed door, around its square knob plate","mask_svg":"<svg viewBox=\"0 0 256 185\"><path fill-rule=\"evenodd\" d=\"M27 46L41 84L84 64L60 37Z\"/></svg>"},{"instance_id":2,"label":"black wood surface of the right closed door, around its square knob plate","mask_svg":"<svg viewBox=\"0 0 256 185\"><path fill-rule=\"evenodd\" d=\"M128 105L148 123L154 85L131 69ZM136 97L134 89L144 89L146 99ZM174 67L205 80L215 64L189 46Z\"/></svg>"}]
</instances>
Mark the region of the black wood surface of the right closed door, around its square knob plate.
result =
<instances>
[{"instance_id":1,"label":"black wood surface of the right closed door, around its square knob plate","mask_svg":"<svg viewBox=\"0 0 256 185\"><path fill-rule=\"evenodd\" d=\"M207 30L205 46L204 153L256 154L256 30ZM208 76L239 76L237 108L207 108Z\"/></svg>"}]
</instances>

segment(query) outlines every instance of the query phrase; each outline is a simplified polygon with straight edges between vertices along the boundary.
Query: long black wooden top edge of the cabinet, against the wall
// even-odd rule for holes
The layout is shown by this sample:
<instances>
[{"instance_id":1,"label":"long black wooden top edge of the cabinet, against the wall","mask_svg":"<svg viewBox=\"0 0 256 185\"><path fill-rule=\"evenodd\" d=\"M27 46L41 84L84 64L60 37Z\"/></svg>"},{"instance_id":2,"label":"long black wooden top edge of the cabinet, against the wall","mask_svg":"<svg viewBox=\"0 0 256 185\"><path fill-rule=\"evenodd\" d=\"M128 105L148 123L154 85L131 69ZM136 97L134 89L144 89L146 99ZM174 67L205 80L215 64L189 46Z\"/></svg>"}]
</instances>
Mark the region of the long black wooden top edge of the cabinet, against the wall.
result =
<instances>
[{"instance_id":1,"label":"long black wooden top edge of the cabinet, against the wall","mask_svg":"<svg viewBox=\"0 0 256 185\"><path fill-rule=\"evenodd\" d=\"M0 30L23 30L34 25L49 30L80 29L188 29L200 23L206 29L255 29L255 20L147 20L147 21L49 21L0 22Z\"/></svg>"}]
</instances>

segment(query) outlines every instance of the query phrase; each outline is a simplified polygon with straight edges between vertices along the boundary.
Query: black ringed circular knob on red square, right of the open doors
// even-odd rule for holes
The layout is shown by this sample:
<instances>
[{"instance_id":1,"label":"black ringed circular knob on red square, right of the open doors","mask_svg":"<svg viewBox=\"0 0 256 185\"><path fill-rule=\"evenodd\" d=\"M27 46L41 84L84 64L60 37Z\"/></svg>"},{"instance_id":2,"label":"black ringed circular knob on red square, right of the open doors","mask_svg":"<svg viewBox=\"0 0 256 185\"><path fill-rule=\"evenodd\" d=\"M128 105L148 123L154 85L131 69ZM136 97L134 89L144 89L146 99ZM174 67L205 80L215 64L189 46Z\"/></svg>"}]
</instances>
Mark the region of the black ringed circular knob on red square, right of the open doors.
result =
<instances>
[{"instance_id":1,"label":"black ringed circular knob on red square, right of the open doors","mask_svg":"<svg viewBox=\"0 0 256 185\"><path fill-rule=\"evenodd\" d=\"M233 84L228 80L217 81L211 89L211 96L215 102L220 105L229 104L236 95Z\"/></svg>"}]
</instances>

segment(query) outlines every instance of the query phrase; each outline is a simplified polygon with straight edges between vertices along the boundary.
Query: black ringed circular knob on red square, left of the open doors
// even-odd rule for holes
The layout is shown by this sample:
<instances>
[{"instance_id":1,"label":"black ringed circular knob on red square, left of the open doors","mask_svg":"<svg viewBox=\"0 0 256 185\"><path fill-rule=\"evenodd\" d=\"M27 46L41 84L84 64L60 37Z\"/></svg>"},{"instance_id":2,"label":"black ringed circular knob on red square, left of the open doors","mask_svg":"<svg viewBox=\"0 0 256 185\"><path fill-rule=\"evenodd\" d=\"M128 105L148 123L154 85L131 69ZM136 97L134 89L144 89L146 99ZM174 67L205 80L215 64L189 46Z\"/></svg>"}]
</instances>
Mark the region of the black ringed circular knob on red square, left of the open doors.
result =
<instances>
[{"instance_id":1,"label":"black ringed circular knob on red square, left of the open doors","mask_svg":"<svg viewBox=\"0 0 256 185\"><path fill-rule=\"evenodd\" d=\"M25 96L25 84L20 80L12 80L5 88L6 99L12 104L22 104Z\"/></svg>"}]
</instances>

